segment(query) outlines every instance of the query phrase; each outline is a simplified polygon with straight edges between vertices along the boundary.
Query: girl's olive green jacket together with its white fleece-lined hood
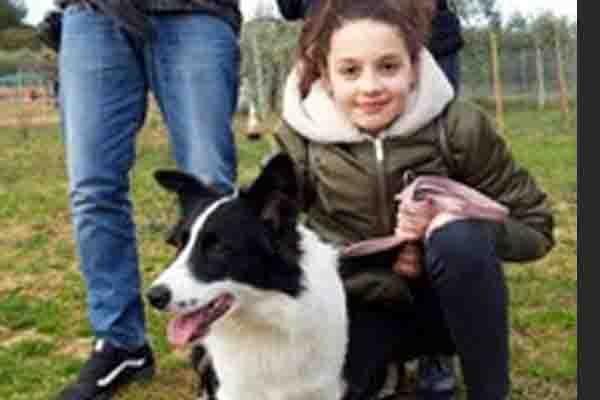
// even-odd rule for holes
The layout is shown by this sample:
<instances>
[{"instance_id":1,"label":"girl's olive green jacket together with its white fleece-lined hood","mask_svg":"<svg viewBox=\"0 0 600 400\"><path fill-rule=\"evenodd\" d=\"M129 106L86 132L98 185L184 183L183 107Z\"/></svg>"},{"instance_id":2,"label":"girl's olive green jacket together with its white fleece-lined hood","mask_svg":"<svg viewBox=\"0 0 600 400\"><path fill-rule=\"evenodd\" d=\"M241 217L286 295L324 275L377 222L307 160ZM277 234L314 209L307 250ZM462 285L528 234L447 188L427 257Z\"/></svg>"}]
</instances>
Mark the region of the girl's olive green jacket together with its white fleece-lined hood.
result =
<instances>
[{"instance_id":1,"label":"girl's olive green jacket together with its white fleece-lined hood","mask_svg":"<svg viewBox=\"0 0 600 400\"><path fill-rule=\"evenodd\" d=\"M397 121L379 139L349 132L318 87L299 99L290 77L284 122L275 138L295 160L307 225L338 245L389 235L395 225L394 195L409 183L407 177L442 175L509 208L508 221L498 225L503 260L544 256L554 244L546 194L518 165L483 110L454 101L441 71L424 58L422 83L406 121Z\"/></svg>"}]
</instances>

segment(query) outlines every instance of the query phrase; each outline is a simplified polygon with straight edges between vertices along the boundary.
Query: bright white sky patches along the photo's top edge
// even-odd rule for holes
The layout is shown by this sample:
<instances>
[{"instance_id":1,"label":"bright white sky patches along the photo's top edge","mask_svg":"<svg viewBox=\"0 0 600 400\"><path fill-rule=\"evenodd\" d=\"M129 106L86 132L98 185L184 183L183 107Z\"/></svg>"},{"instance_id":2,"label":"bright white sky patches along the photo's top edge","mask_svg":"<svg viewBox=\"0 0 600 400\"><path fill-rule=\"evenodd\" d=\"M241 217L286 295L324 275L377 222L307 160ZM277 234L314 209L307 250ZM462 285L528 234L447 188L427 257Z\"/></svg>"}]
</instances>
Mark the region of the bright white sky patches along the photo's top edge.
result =
<instances>
[{"instance_id":1,"label":"bright white sky patches along the photo's top edge","mask_svg":"<svg viewBox=\"0 0 600 400\"><path fill-rule=\"evenodd\" d=\"M240 0L244 14L250 13L257 3L274 0ZM357 1L377 1L377 0L357 0ZM44 17L44 14L52 8L53 0L25 0L29 13L26 22L37 24ZM554 14L566 15L573 19L577 18L577 1L572 0L498 0L500 11L508 16L515 11L520 11L524 15L536 15L542 11L550 10Z\"/></svg>"}]
</instances>

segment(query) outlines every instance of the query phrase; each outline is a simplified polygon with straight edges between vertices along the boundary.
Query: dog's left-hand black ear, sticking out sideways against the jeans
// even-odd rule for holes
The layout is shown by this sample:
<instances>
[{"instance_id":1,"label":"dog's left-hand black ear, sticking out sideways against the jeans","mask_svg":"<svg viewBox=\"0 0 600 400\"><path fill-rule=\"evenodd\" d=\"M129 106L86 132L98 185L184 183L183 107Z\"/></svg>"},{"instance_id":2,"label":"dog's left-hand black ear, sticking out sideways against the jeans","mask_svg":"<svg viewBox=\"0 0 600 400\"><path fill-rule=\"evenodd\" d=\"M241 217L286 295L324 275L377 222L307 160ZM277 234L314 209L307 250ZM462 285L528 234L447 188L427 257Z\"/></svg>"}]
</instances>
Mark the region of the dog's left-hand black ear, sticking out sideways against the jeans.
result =
<instances>
[{"instance_id":1,"label":"dog's left-hand black ear, sticking out sideways against the jeans","mask_svg":"<svg viewBox=\"0 0 600 400\"><path fill-rule=\"evenodd\" d=\"M212 186L204 184L196 177L176 170L158 170L154 179L169 192L177 194L182 215L187 215L201 199L217 197L220 194Z\"/></svg>"}]
</instances>

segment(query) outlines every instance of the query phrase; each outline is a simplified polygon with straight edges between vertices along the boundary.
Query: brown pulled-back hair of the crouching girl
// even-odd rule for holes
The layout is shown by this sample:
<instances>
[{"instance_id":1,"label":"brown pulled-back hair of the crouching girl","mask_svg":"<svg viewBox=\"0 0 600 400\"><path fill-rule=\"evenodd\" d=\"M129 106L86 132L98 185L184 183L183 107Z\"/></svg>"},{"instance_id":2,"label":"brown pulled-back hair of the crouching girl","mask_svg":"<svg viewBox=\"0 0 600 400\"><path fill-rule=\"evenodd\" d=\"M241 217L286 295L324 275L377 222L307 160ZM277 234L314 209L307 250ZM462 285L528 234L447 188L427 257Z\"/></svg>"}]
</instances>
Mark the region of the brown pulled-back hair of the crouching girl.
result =
<instances>
[{"instance_id":1,"label":"brown pulled-back hair of the crouching girl","mask_svg":"<svg viewBox=\"0 0 600 400\"><path fill-rule=\"evenodd\" d=\"M326 70L331 36L346 23L368 19L397 27L411 62L416 64L434 12L433 0L315 0L298 45L302 97Z\"/></svg>"}]
</instances>

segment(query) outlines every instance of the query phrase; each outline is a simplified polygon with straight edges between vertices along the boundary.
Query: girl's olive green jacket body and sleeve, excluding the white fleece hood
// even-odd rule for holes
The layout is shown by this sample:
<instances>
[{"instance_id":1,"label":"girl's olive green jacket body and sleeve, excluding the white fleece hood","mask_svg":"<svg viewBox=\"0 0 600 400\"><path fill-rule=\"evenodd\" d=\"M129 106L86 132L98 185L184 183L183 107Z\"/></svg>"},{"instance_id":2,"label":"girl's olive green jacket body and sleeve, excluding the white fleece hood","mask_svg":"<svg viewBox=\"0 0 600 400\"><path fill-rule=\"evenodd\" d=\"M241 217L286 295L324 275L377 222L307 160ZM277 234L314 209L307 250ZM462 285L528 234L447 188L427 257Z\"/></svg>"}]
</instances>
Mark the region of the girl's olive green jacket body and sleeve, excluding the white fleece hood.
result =
<instances>
[{"instance_id":1,"label":"girl's olive green jacket body and sleeve, excluding the white fleece hood","mask_svg":"<svg viewBox=\"0 0 600 400\"><path fill-rule=\"evenodd\" d=\"M454 168L444 159L440 143L445 128ZM404 177L409 173L451 177L507 206L510 218L498 238L504 260L535 260L554 244L546 194L514 160L492 121L472 104L456 101L447 115L417 135L382 141L387 208L381 207L375 141L311 142L285 122L275 137L279 148L296 162L308 225L334 243L390 234L396 212L393 197L406 186Z\"/></svg>"}]
</instances>

